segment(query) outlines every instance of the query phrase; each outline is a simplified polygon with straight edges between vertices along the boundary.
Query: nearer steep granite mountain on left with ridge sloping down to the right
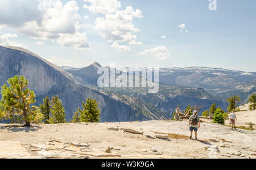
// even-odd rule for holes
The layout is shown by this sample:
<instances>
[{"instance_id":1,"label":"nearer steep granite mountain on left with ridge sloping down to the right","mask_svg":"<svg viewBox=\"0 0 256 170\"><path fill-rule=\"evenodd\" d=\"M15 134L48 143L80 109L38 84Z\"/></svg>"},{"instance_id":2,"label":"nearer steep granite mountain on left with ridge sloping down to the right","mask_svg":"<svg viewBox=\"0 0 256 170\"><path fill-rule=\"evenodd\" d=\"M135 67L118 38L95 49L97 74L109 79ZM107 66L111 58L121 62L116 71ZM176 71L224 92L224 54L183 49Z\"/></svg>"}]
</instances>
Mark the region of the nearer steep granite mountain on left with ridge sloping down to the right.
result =
<instances>
[{"instance_id":1,"label":"nearer steep granite mountain on left with ridge sloping down to the right","mask_svg":"<svg viewBox=\"0 0 256 170\"><path fill-rule=\"evenodd\" d=\"M140 99L79 85L71 73L26 49L0 46L0 86L7 84L6 81L16 74L28 79L29 88L36 94L36 105L39 106L46 96L59 96L68 121L77 107L81 107L82 101L90 96L100 102L102 122L146 121L168 117L156 106Z\"/></svg>"}]
</instances>

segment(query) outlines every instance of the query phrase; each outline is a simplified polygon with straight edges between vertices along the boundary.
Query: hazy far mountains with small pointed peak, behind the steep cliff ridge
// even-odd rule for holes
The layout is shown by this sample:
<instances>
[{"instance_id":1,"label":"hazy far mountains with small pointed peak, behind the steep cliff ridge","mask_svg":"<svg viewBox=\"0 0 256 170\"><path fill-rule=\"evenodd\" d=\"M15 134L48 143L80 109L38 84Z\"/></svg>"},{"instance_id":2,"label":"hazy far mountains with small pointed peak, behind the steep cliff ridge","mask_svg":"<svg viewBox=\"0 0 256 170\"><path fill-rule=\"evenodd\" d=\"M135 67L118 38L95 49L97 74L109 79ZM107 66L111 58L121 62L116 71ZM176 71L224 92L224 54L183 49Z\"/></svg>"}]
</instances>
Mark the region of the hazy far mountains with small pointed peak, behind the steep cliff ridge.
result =
<instances>
[{"instance_id":1,"label":"hazy far mountains with small pointed peak, behind the steep cliff ridge","mask_svg":"<svg viewBox=\"0 0 256 170\"><path fill-rule=\"evenodd\" d=\"M97 86L97 80L100 76L97 74L99 63L93 63L85 68L65 69L71 73L77 82L86 86ZM242 102L247 102L248 97L255 93L256 72L232 71L221 68L189 67L189 68L161 68L159 70L159 83L165 85L165 88L171 86L181 89L202 88L205 92L212 94L213 98L226 101L230 96L240 96ZM164 88L164 86L162 86ZM168 89L167 88L167 89ZM134 88L133 88L134 90ZM109 92L133 95L130 88L110 88ZM141 88L134 90L143 92ZM172 92L172 91L170 91ZM189 92L189 90L188 90ZM187 96L187 94L185 94ZM197 97L197 96L193 96ZM225 104L226 105L226 104ZM225 107L223 105L223 107Z\"/></svg>"}]
</instances>

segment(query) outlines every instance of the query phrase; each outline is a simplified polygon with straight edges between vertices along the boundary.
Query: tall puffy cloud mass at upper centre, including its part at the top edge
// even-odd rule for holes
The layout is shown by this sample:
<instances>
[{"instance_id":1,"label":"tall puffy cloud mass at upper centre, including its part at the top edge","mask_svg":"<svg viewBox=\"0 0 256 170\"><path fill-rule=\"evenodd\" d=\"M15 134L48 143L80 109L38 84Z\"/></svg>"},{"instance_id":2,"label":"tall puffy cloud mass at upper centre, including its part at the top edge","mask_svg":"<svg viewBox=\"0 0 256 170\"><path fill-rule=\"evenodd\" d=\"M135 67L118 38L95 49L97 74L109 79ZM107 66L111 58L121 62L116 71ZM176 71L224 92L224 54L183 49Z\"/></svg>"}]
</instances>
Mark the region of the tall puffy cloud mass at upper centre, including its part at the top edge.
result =
<instances>
[{"instance_id":1,"label":"tall puffy cloud mass at upper centre, including its part at the top edge","mask_svg":"<svg viewBox=\"0 0 256 170\"><path fill-rule=\"evenodd\" d=\"M141 10L134 10L133 7L127 6L125 10L121 8L121 2L117 0L84 0L90 5L84 8L92 13L101 13L105 17L96 19L94 29L98 31L100 36L108 42L129 43L131 45L141 45L137 42L137 36L134 32L139 32L133 24L133 18L142 18Z\"/></svg>"}]
</instances>

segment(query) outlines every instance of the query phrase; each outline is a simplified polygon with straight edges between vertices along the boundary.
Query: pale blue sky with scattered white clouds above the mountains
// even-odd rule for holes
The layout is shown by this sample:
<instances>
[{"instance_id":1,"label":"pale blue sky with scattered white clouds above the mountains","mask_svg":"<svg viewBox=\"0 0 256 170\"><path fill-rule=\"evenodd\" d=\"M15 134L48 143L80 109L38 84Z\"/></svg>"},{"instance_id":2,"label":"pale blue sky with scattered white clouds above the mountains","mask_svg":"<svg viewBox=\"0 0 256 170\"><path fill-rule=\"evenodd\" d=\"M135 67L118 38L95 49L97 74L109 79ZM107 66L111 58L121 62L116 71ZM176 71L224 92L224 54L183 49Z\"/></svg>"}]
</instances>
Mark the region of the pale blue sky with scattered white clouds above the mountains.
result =
<instances>
[{"instance_id":1,"label":"pale blue sky with scattered white clouds above the mountains","mask_svg":"<svg viewBox=\"0 0 256 170\"><path fill-rule=\"evenodd\" d=\"M255 7L254 0L1 0L0 45L75 68L97 61L256 72Z\"/></svg>"}]
</instances>

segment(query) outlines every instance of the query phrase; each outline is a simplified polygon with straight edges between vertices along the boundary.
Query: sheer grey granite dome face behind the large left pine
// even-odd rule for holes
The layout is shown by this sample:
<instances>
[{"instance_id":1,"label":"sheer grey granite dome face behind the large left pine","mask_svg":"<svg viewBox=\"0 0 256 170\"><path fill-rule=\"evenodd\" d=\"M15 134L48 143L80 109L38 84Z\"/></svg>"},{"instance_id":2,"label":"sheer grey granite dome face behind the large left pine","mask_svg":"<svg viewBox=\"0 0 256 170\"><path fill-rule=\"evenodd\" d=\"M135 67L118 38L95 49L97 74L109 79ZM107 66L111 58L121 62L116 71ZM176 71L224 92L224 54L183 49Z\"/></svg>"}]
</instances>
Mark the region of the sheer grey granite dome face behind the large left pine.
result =
<instances>
[{"instance_id":1,"label":"sheer grey granite dome face behind the large left pine","mask_svg":"<svg viewBox=\"0 0 256 170\"><path fill-rule=\"evenodd\" d=\"M26 49L0 47L0 85L16 74L25 76L28 87L38 95L50 92L52 86L72 82L68 73Z\"/></svg>"}]
</instances>

